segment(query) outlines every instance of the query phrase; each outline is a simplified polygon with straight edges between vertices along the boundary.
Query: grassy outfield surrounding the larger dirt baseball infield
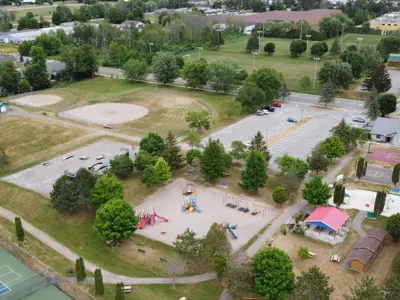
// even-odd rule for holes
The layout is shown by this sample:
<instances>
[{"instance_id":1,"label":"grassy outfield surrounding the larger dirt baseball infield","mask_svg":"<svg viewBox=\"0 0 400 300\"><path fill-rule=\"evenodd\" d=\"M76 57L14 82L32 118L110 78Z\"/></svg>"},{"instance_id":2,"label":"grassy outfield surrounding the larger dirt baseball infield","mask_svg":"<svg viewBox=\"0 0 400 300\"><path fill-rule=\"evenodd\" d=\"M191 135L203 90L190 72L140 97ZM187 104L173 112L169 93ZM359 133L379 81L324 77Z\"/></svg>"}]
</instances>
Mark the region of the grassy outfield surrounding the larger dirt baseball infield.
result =
<instances>
[{"instance_id":1,"label":"grassy outfield surrounding the larger dirt baseball infield","mask_svg":"<svg viewBox=\"0 0 400 300\"><path fill-rule=\"evenodd\" d=\"M56 94L63 101L42 108L50 113L86 104L101 102L132 103L149 109L145 117L116 124L112 131L144 136L149 131L166 135L168 131L180 136L188 127L185 117L189 111L208 110L212 116L213 129L228 125L238 118L228 119L225 114L227 103L234 97L213 92L191 91L175 87L158 87L150 84L132 83L121 79L99 77L80 81L64 88L38 92Z\"/></svg>"}]
</instances>

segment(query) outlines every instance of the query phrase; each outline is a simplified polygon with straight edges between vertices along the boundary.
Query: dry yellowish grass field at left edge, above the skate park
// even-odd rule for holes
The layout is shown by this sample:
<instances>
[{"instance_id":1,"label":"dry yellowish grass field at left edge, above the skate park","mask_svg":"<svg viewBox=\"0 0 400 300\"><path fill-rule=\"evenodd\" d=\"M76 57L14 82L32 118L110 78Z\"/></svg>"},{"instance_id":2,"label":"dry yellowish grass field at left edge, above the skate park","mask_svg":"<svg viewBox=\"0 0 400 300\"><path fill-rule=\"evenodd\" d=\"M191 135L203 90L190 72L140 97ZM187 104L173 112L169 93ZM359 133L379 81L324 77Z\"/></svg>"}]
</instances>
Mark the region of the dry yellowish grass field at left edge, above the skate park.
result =
<instances>
[{"instance_id":1,"label":"dry yellowish grass field at left edge, above the skate park","mask_svg":"<svg viewBox=\"0 0 400 300\"><path fill-rule=\"evenodd\" d=\"M88 138L87 132L77 128L23 117L4 116L0 128L0 145L9 158L10 169Z\"/></svg>"}]
</instances>

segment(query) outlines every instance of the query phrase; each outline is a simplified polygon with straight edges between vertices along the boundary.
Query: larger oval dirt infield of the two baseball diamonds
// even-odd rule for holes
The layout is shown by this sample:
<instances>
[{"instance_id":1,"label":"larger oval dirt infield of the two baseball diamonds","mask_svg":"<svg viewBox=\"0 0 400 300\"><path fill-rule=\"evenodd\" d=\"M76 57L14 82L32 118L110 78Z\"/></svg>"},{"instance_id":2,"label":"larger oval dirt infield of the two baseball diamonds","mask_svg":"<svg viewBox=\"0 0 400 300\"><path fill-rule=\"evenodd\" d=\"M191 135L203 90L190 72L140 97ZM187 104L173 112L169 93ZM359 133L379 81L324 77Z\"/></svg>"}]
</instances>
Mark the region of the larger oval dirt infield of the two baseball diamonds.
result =
<instances>
[{"instance_id":1,"label":"larger oval dirt infield of the two baseball diamonds","mask_svg":"<svg viewBox=\"0 0 400 300\"><path fill-rule=\"evenodd\" d=\"M135 104L97 103L66 110L58 115L76 122L105 125L134 121L148 113L147 108Z\"/></svg>"}]
</instances>

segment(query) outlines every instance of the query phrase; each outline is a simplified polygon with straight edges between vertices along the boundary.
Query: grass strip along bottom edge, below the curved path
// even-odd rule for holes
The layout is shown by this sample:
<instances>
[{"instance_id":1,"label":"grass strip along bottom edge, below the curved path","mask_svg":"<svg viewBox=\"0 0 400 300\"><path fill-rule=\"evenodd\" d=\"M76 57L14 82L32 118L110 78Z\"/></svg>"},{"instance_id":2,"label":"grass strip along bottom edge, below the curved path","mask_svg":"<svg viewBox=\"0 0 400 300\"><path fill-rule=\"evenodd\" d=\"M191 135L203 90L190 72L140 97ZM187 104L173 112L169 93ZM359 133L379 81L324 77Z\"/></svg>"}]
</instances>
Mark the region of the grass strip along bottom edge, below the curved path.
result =
<instances>
[{"instance_id":1,"label":"grass strip along bottom edge, below the curved path","mask_svg":"<svg viewBox=\"0 0 400 300\"><path fill-rule=\"evenodd\" d=\"M94 294L94 286L90 285ZM177 284L174 289L169 284L133 285L132 293L125 293L126 300L177 300L181 297L196 300L217 300L221 296L222 287L215 280L197 284ZM115 285L105 285L104 300L115 298Z\"/></svg>"}]
</instances>

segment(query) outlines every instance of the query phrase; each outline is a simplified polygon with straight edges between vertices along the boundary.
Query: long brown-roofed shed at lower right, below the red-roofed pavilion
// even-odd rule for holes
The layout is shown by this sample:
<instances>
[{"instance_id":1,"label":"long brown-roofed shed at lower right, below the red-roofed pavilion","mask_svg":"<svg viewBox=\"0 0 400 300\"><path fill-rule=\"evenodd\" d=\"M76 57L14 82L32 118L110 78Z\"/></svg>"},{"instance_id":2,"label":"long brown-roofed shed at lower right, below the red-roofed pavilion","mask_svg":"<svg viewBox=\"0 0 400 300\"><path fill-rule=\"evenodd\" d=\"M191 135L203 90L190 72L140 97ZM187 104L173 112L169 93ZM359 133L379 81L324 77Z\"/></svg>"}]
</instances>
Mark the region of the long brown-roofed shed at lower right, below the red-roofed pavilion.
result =
<instances>
[{"instance_id":1,"label":"long brown-roofed shed at lower right, below the red-roofed pavilion","mask_svg":"<svg viewBox=\"0 0 400 300\"><path fill-rule=\"evenodd\" d=\"M350 269L363 273L371 266L382 248L386 231L375 228L349 254Z\"/></svg>"}]
</instances>

